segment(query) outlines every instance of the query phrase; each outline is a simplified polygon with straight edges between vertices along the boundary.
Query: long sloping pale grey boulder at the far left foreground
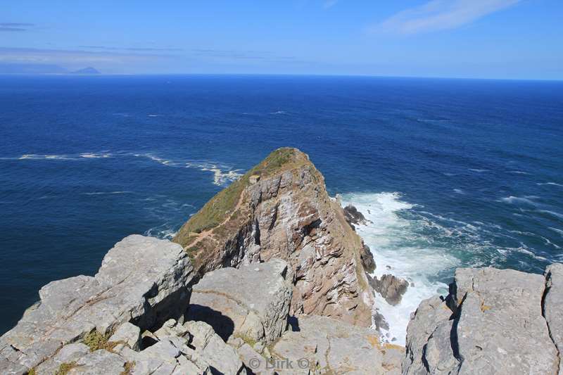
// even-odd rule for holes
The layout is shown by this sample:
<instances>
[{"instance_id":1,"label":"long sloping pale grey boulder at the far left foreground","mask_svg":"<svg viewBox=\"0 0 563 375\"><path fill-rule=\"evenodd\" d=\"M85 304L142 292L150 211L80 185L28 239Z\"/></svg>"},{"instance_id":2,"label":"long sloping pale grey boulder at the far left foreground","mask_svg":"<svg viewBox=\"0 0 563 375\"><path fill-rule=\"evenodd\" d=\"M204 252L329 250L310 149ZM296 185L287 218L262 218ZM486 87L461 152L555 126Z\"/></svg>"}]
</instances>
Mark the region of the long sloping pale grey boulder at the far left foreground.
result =
<instances>
[{"instance_id":1,"label":"long sloping pale grey boulder at the far left foreground","mask_svg":"<svg viewBox=\"0 0 563 375\"><path fill-rule=\"evenodd\" d=\"M39 291L40 303L0 338L0 357L9 364L3 367L36 367L93 329L103 335L126 322L148 329L179 317L192 277L181 246L128 236L109 250L95 277L53 281Z\"/></svg>"}]
</instances>

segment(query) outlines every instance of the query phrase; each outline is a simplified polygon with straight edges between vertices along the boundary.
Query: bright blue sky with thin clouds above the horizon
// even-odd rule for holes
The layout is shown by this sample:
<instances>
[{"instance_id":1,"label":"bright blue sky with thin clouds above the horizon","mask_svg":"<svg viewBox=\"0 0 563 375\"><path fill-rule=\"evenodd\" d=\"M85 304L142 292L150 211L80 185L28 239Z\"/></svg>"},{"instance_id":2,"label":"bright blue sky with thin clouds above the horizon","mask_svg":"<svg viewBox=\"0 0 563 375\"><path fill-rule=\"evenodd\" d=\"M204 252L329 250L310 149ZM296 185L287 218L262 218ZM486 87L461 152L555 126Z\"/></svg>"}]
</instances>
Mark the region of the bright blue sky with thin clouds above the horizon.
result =
<instances>
[{"instance_id":1,"label":"bright blue sky with thin clouds above the horizon","mask_svg":"<svg viewBox=\"0 0 563 375\"><path fill-rule=\"evenodd\" d=\"M4 0L0 65L561 80L563 1Z\"/></svg>"}]
</instances>

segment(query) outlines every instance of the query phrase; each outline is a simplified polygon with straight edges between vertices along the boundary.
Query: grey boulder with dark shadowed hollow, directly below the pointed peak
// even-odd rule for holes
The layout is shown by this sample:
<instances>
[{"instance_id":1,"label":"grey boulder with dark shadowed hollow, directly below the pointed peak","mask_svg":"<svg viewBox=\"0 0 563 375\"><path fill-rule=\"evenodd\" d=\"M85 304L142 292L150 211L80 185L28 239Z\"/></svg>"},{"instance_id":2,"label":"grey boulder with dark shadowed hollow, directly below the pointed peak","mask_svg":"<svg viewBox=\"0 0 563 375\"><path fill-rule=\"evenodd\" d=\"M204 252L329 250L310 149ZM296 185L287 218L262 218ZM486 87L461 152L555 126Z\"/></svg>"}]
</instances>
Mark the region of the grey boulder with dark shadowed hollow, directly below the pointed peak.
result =
<instances>
[{"instance_id":1,"label":"grey boulder with dark shadowed hollow, directly below the pointed peak","mask_svg":"<svg viewBox=\"0 0 563 375\"><path fill-rule=\"evenodd\" d=\"M216 269L194 286L188 318L207 322L224 341L270 345L286 331L292 286L293 271L281 259Z\"/></svg>"}]
</instances>

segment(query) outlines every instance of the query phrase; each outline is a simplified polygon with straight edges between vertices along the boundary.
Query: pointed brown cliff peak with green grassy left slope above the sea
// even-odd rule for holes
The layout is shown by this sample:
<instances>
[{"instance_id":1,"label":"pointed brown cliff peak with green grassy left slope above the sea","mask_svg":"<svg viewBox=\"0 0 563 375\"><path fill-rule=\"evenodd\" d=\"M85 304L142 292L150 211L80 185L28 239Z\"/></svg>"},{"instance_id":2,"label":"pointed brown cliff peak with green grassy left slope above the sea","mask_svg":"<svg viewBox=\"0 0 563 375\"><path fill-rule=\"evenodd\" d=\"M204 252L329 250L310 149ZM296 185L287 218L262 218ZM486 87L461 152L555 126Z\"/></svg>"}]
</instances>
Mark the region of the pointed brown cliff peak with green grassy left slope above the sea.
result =
<instances>
[{"instance_id":1,"label":"pointed brown cliff peak with green grassy left slope above the sea","mask_svg":"<svg viewBox=\"0 0 563 375\"><path fill-rule=\"evenodd\" d=\"M221 267L281 258L295 274L291 314L372 324L362 241L308 156L280 148L217 193L180 229L201 277Z\"/></svg>"}]
</instances>

